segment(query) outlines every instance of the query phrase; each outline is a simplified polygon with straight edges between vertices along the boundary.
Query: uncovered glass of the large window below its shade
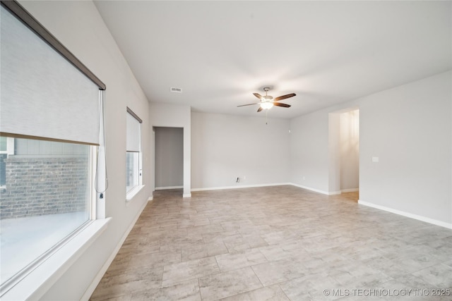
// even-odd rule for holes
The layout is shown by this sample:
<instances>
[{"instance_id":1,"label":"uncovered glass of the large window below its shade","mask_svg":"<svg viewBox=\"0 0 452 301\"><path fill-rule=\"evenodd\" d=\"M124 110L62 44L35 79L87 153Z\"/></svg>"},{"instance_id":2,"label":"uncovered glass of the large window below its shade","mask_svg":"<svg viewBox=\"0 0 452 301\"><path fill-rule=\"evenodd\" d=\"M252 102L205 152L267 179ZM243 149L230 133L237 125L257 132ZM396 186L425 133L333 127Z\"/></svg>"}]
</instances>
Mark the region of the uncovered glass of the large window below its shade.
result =
<instances>
[{"instance_id":1,"label":"uncovered glass of the large window below its shade","mask_svg":"<svg viewBox=\"0 0 452 301\"><path fill-rule=\"evenodd\" d=\"M6 137L1 137L6 140ZM16 140L4 160L1 190L1 275L13 278L90 220L89 145Z\"/></svg>"}]
</instances>

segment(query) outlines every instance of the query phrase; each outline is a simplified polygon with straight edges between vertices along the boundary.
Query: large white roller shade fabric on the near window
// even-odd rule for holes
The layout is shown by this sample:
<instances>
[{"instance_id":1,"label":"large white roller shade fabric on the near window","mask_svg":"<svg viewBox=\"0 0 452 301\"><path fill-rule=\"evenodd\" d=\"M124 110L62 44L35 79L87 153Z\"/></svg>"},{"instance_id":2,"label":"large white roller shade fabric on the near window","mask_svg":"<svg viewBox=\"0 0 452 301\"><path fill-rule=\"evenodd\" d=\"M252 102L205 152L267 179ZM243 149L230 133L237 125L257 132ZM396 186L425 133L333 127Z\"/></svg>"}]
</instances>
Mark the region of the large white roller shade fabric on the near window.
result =
<instances>
[{"instance_id":1,"label":"large white roller shade fabric on the near window","mask_svg":"<svg viewBox=\"0 0 452 301\"><path fill-rule=\"evenodd\" d=\"M99 87L0 9L0 131L98 145Z\"/></svg>"}]
</instances>

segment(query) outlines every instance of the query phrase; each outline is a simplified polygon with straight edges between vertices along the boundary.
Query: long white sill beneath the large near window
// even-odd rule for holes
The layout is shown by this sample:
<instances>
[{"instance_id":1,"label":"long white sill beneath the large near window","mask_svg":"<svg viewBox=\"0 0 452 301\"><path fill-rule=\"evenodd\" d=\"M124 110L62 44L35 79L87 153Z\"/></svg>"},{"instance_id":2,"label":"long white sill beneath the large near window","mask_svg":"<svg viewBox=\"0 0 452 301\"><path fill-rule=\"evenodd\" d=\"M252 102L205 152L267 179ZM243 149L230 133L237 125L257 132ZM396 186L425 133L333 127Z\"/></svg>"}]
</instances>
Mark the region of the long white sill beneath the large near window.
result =
<instances>
[{"instance_id":1,"label":"long white sill beneath the large near window","mask_svg":"<svg viewBox=\"0 0 452 301\"><path fill-rule=\"evenodd\" d=\"M107 228L111 218L92 221L36 269L1 296L2 300L39 300Z\"/></svg>"}]
</instances>

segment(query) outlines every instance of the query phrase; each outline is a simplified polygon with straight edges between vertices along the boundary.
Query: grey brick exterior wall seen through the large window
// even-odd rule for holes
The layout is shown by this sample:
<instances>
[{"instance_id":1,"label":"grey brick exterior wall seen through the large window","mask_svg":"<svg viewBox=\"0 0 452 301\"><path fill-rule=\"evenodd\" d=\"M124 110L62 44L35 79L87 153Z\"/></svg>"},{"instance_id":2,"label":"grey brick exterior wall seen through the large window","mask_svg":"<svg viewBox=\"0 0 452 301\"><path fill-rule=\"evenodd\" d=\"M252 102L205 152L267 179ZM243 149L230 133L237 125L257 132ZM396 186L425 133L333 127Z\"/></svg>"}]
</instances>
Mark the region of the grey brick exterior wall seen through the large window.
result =
<instances>
[{"instance_id":1,"label":"grey brick exterior wall seen through the large window","mask_svg":"<svg viewBox=\"0 0 452 301\"><path fill-rule=\"evenodd\" d=\"M17 158L6 161L0 219L85 211L86 157Z\"/></svg>"}]
</instances>

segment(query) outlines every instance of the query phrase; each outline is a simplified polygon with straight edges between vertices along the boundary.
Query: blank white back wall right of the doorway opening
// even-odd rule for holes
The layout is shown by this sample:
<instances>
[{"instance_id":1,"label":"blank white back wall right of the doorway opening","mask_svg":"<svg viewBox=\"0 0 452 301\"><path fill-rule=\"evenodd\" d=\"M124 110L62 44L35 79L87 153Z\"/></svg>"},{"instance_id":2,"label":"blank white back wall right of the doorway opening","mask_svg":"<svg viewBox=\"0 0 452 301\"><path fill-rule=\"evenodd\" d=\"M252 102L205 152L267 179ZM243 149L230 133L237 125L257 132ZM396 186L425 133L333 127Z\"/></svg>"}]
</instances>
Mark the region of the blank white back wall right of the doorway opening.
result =
<instances>
[{"instance_id":1,"label":"blank white back wall right of the doorway opening","mask_svg":"<svg viewBox=\"0 0 452 301\"><path fill-rule=\"evenodd\" d=\"M289 125L277 118L266 124L265 117L192 112L192 188L287 183Z\"/></svg>"}]
</instances>

